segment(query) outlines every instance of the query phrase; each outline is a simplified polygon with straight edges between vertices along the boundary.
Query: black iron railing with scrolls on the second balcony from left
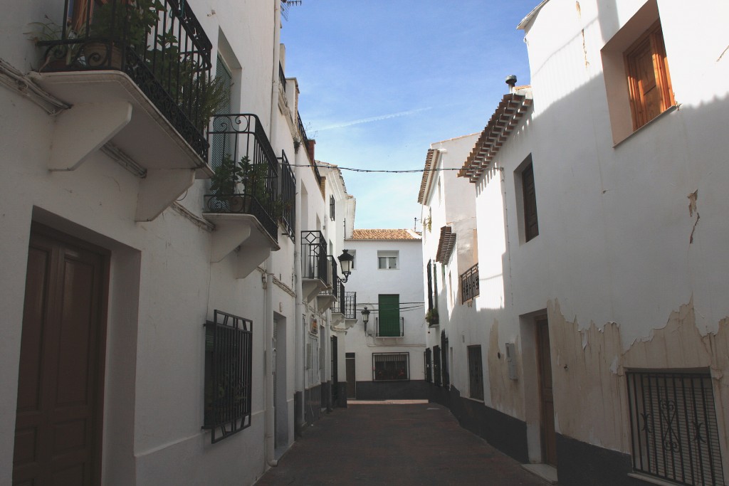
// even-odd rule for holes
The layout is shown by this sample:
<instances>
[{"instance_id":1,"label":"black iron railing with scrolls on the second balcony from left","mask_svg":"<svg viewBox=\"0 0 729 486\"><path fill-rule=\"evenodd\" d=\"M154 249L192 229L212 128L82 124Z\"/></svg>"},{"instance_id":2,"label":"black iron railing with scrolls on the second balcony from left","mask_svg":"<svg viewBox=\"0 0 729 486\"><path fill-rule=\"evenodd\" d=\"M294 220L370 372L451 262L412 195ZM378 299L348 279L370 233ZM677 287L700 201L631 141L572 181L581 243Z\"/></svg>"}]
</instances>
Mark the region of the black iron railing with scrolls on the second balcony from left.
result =
<instances>
[{"instance_id":1,"label":"black iron railing with scrolls on the second balcony from left","mask_svg":"<svg viewBox=\"0 0 729 486\"><path fill-rule=\"evenodd\" d=\"M254 114L216 115L208 141L215 192L205 196L206 212L256 216L278 241L278 218L293 201L284 203L279 195L278 159L260 119Z\"/></svg>"}]
</instances>

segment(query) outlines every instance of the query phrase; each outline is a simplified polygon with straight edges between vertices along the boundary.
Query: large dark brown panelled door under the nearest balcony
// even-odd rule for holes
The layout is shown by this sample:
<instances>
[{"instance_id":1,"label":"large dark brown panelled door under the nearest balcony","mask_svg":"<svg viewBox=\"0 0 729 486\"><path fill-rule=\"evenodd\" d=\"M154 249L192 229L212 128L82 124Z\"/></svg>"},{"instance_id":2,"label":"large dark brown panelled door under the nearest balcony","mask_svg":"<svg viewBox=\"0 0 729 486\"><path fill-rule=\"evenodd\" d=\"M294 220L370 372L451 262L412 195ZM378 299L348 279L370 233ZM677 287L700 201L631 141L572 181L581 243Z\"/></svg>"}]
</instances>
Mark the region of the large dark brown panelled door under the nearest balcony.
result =
<instances>
[{"instance_id":1,"label":"large dark brown panelled door under the nearest balcony","mask_svg":"<svg viewBox=\"0 0 729 486\"><path fill-rule=\"evenodd\" d=\"M13 484L101 482L106 256L34 227L20 344Z\"/></svg>"}]
</instances>

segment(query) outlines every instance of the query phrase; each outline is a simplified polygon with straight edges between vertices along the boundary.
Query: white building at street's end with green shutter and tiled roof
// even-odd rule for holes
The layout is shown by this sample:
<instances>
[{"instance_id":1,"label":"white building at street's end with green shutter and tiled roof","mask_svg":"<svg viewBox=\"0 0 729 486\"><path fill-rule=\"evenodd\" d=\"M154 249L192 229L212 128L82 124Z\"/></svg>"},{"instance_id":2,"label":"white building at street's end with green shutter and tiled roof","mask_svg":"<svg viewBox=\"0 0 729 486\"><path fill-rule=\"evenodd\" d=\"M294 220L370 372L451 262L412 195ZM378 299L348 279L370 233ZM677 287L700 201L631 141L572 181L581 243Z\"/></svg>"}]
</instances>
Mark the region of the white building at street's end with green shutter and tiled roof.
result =
<instances>
[{"instance_id":1,"label":"white building at street's end with green shutter and tiled roof","mask_svg":"<svg viewBox=\"0 0 729 486\"><path fill-rule=\"evenodd\" d=\"M344 244L354 256L347 288L356 292L359 319L345 337L347 397L426 398L420 235L353 230Z\"/></svg>"}]
</instances>

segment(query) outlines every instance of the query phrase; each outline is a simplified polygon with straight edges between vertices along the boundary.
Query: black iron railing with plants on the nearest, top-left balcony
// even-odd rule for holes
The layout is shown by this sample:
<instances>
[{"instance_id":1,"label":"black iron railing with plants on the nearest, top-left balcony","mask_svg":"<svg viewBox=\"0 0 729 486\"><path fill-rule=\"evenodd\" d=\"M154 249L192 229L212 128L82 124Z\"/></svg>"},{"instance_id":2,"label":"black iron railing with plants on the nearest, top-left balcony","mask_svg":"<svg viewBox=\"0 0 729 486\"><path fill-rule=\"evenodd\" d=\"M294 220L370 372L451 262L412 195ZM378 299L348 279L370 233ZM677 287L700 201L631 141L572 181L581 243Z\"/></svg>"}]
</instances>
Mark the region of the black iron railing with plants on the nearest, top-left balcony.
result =
<instances>
[{"instance_id":1,"label":"black iron railing with plants on the nearest, top-left balcony","mask_svg":"<svg viewBox=\"0 0 729 486\"><path fill-rule=\"evenodd\" d=\"M222 89L212 44L180 0L63 1L58 23L37 23L40 71L122 71L203 159L204 136Z\"/></svg>"}]
</instances>

